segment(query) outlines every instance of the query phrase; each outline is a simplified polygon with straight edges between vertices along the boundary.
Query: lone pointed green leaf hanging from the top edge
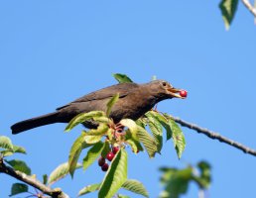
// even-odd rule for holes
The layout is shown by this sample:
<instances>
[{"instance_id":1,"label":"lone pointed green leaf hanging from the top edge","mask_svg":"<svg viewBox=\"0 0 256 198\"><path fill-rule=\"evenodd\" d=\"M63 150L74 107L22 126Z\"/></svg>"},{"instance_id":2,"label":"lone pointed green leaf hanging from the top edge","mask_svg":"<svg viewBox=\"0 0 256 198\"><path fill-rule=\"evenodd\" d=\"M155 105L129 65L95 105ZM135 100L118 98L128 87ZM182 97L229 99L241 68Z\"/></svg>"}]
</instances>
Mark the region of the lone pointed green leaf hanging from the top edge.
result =
<instances>
[{"instance_id":1,"label":"lone pointed green leaf hanging from the top edge","mask_svg":"<svg viewBox=\"0 0 256 198\"><path fill-rule=\"evenodd\" d=\"M236 13L238 0L221 0L219 8L224 20L225 28L228 30Z\"/></svg>"}]
</instances>

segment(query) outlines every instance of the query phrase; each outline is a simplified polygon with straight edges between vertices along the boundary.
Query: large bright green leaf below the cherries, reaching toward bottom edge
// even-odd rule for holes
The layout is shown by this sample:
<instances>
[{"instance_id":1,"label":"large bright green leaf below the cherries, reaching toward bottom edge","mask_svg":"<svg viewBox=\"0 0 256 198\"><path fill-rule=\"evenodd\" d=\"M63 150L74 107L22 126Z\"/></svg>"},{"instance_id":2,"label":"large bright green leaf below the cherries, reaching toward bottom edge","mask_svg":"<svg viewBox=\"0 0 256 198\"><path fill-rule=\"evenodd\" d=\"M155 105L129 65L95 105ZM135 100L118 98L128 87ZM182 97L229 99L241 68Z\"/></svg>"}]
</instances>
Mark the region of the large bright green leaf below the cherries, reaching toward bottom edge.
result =
<instances>
[{"instance_id":1,"label":"large bright green leaf below the cherries, reaching toward bottom edge","mask_svg":"<svg viewBox=\"0 0 256 198\"><path fill-rule=\"evenodd\" d=\"M120 149L112 160L100 185L98 198L111 198L127 179L127 152Z\"/></svg>"}]
</instances>

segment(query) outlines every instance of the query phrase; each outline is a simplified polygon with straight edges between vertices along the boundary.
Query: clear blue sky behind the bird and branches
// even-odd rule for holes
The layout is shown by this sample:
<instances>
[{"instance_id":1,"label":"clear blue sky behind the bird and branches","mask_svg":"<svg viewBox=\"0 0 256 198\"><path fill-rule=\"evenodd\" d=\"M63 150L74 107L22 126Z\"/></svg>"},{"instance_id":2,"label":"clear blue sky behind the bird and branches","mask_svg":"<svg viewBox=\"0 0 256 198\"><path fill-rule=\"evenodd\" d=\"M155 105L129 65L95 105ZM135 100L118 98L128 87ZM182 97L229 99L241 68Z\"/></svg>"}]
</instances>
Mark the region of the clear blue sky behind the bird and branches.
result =
<instances>
[{"instance_id":1,"label":"clear blue sky behind the bird and branches","mask_svg":"<svg viewBox=\"0 0 256 198\"><path fill-rule=\"evenodd\" d=\"M66 161L79 135L56 124L11 135L15 122L54 111L90 91L115 83L112 73L137 82L153 75L189 91L158 109L256 148L256 27L243 7L229 32L218 1L0 1L0 135L27 148L39 178ZM157 197L162 165L212 165L211 198L253 197L256 158L184 129L187 148L178 160L171 142L162 155L129 152L129 177ZM84 153L83 153L84 154ZM103 173L96 164L57 183L71 197ZM0 175L0 197L15 179ZM95 194L87 197L96 197ZM132 197L136 197L132 195ZM195 185L184 197L196 197Z\"/></svg>"}]
</instances>

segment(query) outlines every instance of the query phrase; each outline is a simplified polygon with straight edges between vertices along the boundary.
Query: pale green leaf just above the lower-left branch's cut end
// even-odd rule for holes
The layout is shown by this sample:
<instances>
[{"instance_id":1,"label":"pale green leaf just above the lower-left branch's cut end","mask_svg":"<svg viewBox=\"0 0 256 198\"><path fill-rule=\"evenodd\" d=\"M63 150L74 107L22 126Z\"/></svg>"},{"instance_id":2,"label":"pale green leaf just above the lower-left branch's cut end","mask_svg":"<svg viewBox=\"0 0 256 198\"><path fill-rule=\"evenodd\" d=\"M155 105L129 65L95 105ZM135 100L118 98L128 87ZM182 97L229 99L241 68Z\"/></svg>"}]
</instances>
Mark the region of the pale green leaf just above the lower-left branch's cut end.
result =
<instances>
[{"instance_id":1,"label":"pale green leaf just above the lower-left branch's cut end","mask_svg":"<svg viewBox=\"0 0 256 198\"><path fill-rule=\"evenodd\" d=\"M75 169L80 168L81 164L76 163ZM53 185L53 183L59 181L60 179L64 178L68 174L69 166L68 162L64 162L60 164L49 176L48 184Z\"/></svg>"}]
</instances>

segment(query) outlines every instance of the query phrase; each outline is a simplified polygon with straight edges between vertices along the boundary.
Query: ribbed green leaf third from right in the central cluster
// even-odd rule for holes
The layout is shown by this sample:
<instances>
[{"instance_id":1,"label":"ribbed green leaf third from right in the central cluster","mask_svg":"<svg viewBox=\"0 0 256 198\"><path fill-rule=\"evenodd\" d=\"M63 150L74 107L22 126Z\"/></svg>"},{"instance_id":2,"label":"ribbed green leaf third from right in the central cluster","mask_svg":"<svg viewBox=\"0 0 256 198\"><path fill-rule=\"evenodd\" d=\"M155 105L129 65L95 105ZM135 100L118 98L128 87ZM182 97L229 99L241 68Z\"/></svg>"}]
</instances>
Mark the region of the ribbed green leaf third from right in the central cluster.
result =
<instances>
[{"instance_id":1,"label":"ribbed green leaf third from right in the central cluster","mask_svg":"<svg viewBox=\"0 0 256 198\"><path fill-rule=\"evenodd\" d=\"M158 151L157 143L155 139L153 139L149 133L142 127L138 126L137 136L143 146L146 148L150 157L154 157L156 152Z\"/></svg>"}]
</instances>

